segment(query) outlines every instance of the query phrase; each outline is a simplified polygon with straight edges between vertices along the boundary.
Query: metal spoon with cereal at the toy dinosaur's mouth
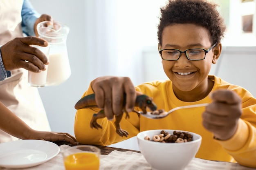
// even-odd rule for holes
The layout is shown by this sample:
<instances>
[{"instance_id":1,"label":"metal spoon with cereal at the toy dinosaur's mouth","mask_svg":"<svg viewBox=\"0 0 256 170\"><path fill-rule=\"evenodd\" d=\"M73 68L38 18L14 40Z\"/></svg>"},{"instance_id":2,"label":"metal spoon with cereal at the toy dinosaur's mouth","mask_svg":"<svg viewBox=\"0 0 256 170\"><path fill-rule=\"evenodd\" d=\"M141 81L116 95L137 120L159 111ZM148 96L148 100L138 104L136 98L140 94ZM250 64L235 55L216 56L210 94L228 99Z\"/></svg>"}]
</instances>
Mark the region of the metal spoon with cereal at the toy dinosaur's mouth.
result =
<instances>
[{"instance_id":1,"label":"metal spoon with cereal at the toy dinosaur's mouth","mask_svg":"<svg viewBox=\"0 0 256 170\"><path fill-rule=\"evenodd\" d=\"M167 113L166 112L163 114L160 113L159 115L153 115L153 114L151 114L151 112L147 112L146 114L144 114L142 111L139 111L138 113L141 114L142 116L150 118L150 119L161 119L161 118L168 116L170 113L172 113L173 111L178 110L178 109L195 108L195 107L202 107L202 106L207 106L207 105L208 105L208 103L179 106L179 107L172 108Z\"/></svg>"}]
</instances>

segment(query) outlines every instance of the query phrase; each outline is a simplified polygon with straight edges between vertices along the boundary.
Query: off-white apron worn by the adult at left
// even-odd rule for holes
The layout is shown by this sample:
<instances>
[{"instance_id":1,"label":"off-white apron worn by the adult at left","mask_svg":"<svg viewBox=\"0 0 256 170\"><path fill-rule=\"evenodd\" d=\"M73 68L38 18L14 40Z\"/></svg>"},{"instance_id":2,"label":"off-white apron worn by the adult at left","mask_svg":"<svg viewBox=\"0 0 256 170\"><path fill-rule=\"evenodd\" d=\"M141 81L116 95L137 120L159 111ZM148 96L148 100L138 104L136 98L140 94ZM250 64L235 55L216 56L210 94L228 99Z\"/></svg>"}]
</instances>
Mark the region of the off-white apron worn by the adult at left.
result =
<instances>
[{"instance_id":1,"label":"off-white apron worn by the adult at left","mask_svg":"<svg viewBox=\"0 0 256 170\"><path fill-rule=\"evenodd\" d=\"M23 36L22 4L23 0L0 0L0 45ZM0 102L31 128L50 131L38 89L27 85L27 70L23 68L13 70L11 77L0 81ZM0 143L12 140L18 139L0 130Z\"/></svg>"}]
</instances>

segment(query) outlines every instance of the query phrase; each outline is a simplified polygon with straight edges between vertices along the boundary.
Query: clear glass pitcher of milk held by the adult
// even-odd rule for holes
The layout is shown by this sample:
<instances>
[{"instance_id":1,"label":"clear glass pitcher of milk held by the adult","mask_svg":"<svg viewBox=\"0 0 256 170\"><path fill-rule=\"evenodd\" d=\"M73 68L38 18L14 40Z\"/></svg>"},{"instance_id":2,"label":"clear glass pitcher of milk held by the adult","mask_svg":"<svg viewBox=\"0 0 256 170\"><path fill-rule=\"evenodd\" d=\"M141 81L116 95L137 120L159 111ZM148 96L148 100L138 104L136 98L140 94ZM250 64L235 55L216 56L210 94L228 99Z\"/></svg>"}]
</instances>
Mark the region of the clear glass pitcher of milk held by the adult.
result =
<instances>
[{"instance_id":1,"label":"clear glass pitcher of milk held by the adult","mask_svg":"<svg viewBox=\"0 0 256 170\"><path fill-rule=\"evenodd\" d=\"M67 34L69 27L60 22L40 22L36 29L39 38L49 43L49 65L45 86L56 86L65 82L71 75L70 63L67 55Z\"/></svg>"}]
</instances>

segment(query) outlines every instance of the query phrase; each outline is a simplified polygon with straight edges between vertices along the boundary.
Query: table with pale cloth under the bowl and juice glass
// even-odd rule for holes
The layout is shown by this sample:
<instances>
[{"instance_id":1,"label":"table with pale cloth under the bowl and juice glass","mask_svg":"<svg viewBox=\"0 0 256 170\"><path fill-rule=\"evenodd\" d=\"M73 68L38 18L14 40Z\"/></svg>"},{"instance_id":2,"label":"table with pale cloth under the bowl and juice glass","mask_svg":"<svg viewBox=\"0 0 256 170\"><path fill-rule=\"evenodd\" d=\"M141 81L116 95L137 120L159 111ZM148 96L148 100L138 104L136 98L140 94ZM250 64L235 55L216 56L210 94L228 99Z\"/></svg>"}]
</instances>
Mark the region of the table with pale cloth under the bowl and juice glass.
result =
<instances>
[{"instance_id":1,"label":"table with pale cloth under the bowl and juice glass","mask_svg":"<svg viewBox=\"0 0 256 170\"><path fill-rule=\"evenodd\" d=\"M56 143L61 151L53 159L31 168L20 168L18 170L65 170L62 152L70 148L71 145L65 143ZM100 170L151 170L141 152L123 148L113 148L108 146L97 146L101 149ZM0 168L0 170L17 170L9 168ZM256 168L247 168L238 163L209 161L199 158L193 158L185 170L256 170Z\"/></svg>"}]
</instances>

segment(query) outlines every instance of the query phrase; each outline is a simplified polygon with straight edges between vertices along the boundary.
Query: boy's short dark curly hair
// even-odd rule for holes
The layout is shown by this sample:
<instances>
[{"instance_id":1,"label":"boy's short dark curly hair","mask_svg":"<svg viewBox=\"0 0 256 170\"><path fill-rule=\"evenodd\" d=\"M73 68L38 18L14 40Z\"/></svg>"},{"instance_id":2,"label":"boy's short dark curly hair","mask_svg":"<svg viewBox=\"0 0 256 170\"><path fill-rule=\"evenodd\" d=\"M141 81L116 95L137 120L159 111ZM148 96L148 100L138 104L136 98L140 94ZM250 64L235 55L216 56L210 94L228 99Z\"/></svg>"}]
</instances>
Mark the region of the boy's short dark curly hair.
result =
<instances>
[{"instance_id":1,"label":"boy's short dark curly hair","mask_svg":"<svg viewBox=\"0 0 256 170\"><path fill-rule=\"evenodd\" d=\"M157 32L160 45L166 26L185 23L203 26L209 30L212 44L220 42L224 37L226 26L216 7L218 4L206 0L169 0L168 4L161 8Z\"/></svg>"}]
</instances>

